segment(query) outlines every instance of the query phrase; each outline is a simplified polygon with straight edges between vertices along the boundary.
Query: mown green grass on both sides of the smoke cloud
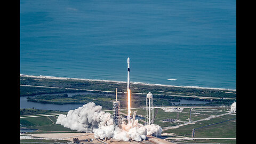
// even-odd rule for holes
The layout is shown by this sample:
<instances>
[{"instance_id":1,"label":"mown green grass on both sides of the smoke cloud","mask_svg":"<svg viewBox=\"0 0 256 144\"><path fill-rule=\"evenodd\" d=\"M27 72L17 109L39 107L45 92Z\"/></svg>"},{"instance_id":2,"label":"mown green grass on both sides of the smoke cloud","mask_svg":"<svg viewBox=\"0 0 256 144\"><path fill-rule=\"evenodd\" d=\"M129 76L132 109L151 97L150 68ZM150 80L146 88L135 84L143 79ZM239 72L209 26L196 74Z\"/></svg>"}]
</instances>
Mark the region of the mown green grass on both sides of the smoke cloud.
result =
<instances>
[{"instance_id":1,"label":"mown green grass on both sides of the smoke cloud","mask_svg":"<svg viewBox=\"0 0 256 144\"><path fill-rule=\"evenodd\" d=\"M188 118L189 118L190 108L184 108L181 111L181 113L165 112L161 108L157 108L157 109L158 109L158 112L155 117L155 124L160 125L162 128L167 126L175 126L175 125L186 123L189 121ZM137 115L145 116L145 109L142 109L142 108L132 109L132 111L134 110L137 110ZM224 108L219 108L219 109L194 108L193 110L195 111L191 111L192 112L191 121L196 121L196 120L204 119L213 115L220 115L223 113L227 113L227 111L225 111L226 109ZM127 110L121 110L121 111L123 113L127 113ZM109 112L110 114L112 113L112 111L106 111L106 112ZM155 113L156 113L156 109L155 109ZM32 132L32 133L54 133L56 131L76 132L66 127L63 127L60 124L55 124L55 122L57 121L57 118L58 118L57 116L21 118L20 123L21 125L26 125L26 127L29 129L38 129L38 131ZM174 121L171 123L162 122L162 120L166 118L178 119L179 121ZM166 130L166 131L163 131L162 133L173 133L172 137L185 136L185 137L191 138L193 129L210 125L210 124L227 121L228 119L233 119L233 118L236 118L236 115L228 114L228 115L212 118L209 121L201 121L195 124L180 126L176 129ZM140 123L143 124L142 122ZM197 129L195 130L194 137L195 138L236 138L236 119L211 125L211 126L207 126L207 127L203 127L201 129ZM236 143L236 140L186 140L186 141L179 141L179 142Z\"/></svg>"}]
</instances>

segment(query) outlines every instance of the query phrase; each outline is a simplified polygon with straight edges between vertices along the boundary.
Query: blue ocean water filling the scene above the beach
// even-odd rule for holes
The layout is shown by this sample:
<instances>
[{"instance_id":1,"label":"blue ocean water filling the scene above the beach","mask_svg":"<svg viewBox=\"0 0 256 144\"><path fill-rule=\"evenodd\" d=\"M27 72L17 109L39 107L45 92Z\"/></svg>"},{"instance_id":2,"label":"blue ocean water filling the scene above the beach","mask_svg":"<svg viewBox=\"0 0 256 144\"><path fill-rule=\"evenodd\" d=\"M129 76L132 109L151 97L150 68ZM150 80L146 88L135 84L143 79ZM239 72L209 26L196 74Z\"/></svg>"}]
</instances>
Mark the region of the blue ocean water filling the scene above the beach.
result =
<instances>
[{"instance_id":1,"label":"blue ocean water filling the scene above the beach","mask_svg":"<svg viewBox=\"0 0 256 144\"><path fill-rule=\"evenodd\" d=\"M128 57L132 82L236 89L236 1L20 1L21 74L126 81Z\"/></svg>"}]
</instances>

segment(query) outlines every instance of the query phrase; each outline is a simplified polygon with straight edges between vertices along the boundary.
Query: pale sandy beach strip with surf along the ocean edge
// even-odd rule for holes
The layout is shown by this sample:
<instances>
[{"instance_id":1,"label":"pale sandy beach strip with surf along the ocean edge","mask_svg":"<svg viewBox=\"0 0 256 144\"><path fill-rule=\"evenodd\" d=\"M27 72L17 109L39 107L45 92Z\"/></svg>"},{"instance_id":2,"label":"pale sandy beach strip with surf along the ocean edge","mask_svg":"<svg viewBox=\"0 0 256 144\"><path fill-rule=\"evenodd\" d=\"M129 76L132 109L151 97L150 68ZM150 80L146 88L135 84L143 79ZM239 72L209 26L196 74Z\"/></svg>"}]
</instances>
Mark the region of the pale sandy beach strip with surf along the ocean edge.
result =
<instances>
[{"instance_id":1,"label":"pale sandy beach strip with surf along the ocean edge","mask_svg":"<svg viewBox=\"0 0 256 144\"><path fill-rule=\"evenodd\" d=\"M33 77L33 78L47 78L47 79L74 79L74 80L82 80L82 81L97 81L97 82L112 82L112 83L127 83L123 81L112 81L112 80L104 80L104 79L87 79L87 78L72 78L72 77L55 77L55 76L34 76L34 75L25 75L20 74L20 76L24 77ZM175 85L165 85L165 84L149 84L142 82L130 82L132 84L141 84L141 85L150 85L150 86L167 86L167 87L181 87L181 88L194 88L194 89L209 89L209 90L225 90L225 91L236 91L236 89L225 89L225 88L214 88L214 87L199 87L199 86L175 86Z\"/></svg>"}]
</instances>

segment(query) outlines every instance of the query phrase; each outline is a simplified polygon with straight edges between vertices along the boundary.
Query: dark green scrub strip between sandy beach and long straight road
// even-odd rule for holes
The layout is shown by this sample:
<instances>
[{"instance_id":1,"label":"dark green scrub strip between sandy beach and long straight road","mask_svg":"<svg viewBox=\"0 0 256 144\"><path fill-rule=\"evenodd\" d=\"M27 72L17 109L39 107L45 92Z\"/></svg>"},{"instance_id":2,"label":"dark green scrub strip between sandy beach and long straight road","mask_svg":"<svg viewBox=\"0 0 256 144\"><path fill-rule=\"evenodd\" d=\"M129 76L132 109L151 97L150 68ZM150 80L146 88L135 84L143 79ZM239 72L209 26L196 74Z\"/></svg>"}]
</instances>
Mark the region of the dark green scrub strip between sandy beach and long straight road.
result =
<instances>
[{"instance_id":1,"label":"dark green scrub strip between sandy beach and long straight road","mask_svg":"<svg viewBox=\"0 0 256 144\"><path fill-rule=\"evenodd\" d=\"M62 88L73 89L87 89L87 90L100 90L100 91L118 91L126 92L126 83L116 82L98 82L98 81L82 81L75 79L47 79L47 78L33 78L33 77L20 77L20 84L22 85L37 85L37 86L53 86ZM37 89L37 92L26 91L22 86L21 96L25 95L38 95L49 93L62 93L63 91L78 92L79 90L65 90L65 89L52 89L46 88L47 91L42 91L42 87ZM185 87L169 87L169 86L157 86L157 85L142 85L131 84L131 90L134 93L148 93L162 94L162 95L197 95L199 97L218 97L218 98L236 98L236 92L228 90L211 90L211 89L195 89ZM52 92L56 91L56 92ZM81 92L81 91L80 91Z\"/></svg>"}]
</instances>

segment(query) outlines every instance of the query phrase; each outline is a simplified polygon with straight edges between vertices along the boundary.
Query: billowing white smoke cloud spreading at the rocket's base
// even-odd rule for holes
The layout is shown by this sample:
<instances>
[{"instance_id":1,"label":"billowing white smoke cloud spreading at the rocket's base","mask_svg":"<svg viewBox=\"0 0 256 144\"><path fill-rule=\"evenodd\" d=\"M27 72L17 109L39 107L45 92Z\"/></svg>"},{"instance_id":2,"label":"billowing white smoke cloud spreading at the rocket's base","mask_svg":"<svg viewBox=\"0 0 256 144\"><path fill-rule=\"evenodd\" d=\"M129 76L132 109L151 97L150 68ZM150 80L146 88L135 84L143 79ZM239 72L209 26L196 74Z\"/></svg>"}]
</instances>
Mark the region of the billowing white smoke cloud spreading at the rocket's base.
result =
<instances>
[{"instance_id":1,"label":"billowing white smoke cloud spreading at the rocket's base","mask_svg":"<svg viewBox=\"0 0 256 144\"><path fill-rule=\"evenodd\" d=\"M69 110L67 115L59 115L56 123L79 132L93 132L96 139L142 141L147 138L146 135L159 137L162 134L161 126L155 124L143 126L138 123L138 119L135 119L133 128L132 123L125 122L122 124L122 129L115 127L111 114L101 109L101 106L95 106L95 103L89 102L75 110Z\"/></svg>"}]
</instances>

